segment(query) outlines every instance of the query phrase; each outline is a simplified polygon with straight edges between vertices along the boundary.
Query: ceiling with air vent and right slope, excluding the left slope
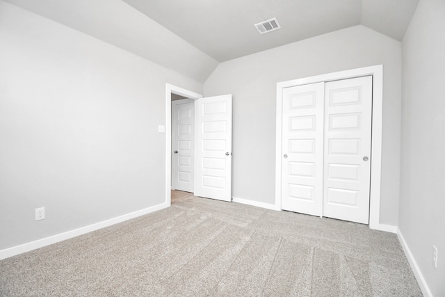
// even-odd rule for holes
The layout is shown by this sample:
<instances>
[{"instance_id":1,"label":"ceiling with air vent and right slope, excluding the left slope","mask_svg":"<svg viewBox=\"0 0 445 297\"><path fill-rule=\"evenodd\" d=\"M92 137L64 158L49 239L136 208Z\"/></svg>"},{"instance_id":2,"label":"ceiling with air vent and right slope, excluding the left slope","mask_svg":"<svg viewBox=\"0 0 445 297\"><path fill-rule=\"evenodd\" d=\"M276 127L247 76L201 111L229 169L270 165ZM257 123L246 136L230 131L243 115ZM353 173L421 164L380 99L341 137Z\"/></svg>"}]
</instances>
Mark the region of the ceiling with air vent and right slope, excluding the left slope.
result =
<instances>
[{"instance_id":1,"label":"ceiling with air vent and right slope, excluding the left slope","mask_svg":"<svg viewBox=\"0 0 445 297\"><path fill-rule=\"evenodd\" d=\"M419 0L123 0L219 62L362 24L401 41ZM282 29L254 24L277 17Z\"/></svg>"}]
</instances>

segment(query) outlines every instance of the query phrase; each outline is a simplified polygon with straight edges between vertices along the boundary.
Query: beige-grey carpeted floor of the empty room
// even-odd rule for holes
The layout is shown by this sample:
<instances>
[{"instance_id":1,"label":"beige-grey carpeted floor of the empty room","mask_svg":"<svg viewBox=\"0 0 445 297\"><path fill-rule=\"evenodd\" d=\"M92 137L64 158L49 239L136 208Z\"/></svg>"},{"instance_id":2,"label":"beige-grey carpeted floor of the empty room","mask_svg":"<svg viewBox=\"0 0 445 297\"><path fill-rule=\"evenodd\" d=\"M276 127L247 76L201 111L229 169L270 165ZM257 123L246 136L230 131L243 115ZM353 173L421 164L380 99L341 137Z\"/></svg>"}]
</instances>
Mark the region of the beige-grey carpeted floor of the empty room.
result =
<instances>
[{"instance_id":1,"label":"beige-grey carpeted floor of the empty room","mask_svg":"<svg viewBox=\"0 0 445 297\"><path fill-rule=\"evenodd\" d=\"M172 191L172 207L0 261L0 296L421 296L395 234Z\"/></svg>"}]
</instances>

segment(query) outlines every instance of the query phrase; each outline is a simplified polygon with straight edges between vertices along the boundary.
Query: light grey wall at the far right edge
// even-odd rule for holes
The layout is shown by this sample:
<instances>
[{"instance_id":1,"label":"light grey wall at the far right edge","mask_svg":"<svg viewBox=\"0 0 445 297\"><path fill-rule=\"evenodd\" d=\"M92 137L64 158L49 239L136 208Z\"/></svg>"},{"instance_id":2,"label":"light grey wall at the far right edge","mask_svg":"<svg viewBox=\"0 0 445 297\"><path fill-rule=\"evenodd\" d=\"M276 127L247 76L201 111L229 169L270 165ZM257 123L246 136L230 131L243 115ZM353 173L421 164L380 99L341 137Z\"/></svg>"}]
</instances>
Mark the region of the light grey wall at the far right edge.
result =
<instances>
[{"instance_id":1,"label":"light grey wall at the far right edge","mask_svg":"<svg viewBox=\"0 0 445 297\"><path fill-rule=\"evenodd\" d=\"M421 0L403 39L398 227L433 296L445 296L444 86L445 1Z\"/></svg>"}]
</instances>

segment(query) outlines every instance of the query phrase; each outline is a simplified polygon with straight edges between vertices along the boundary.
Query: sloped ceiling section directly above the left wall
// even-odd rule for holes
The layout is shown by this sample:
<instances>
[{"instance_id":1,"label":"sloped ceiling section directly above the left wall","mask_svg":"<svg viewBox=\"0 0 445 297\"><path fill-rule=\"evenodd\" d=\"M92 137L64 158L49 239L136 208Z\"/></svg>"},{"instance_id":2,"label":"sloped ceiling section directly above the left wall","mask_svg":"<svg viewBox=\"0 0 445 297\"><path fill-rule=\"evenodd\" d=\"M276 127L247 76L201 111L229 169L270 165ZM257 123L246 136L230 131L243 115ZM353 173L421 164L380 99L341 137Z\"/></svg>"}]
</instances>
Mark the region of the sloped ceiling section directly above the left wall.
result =
<instances>
[{"instance_id":1,"label":"sloped ceiling section directly above the left wall","mask_svg":"<svg viewBox=\"0 0 445 297\"><path fill-rule=\"evenodd\" d=\"M122 0L3 0L203 83L218 65ZM178 50L181 49L181 50Z\"/></svg>"}]
</instances>

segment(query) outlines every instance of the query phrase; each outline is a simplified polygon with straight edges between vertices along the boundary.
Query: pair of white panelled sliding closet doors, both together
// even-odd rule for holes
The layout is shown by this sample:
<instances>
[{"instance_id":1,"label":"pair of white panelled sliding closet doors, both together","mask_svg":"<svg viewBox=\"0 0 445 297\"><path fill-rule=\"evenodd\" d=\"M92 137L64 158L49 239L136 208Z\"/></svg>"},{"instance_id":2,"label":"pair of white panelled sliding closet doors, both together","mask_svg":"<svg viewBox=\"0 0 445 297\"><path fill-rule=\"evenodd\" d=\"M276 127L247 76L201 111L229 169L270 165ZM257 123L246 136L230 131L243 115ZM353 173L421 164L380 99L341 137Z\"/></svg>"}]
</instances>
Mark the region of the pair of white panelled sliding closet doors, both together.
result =
<instances>
[{"instance_id":1,"label":"pair of white panelled sliding closet doors, both together","mask_svg":"<svg viewBox=\"0 0 445 297\"><path fill-rule=\"evenodd\" d=\"M369 223L372 77L283 90L282 209Z\"/></svg>"}]
</instances>

